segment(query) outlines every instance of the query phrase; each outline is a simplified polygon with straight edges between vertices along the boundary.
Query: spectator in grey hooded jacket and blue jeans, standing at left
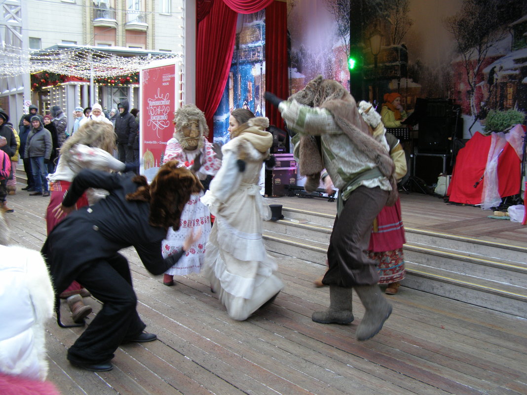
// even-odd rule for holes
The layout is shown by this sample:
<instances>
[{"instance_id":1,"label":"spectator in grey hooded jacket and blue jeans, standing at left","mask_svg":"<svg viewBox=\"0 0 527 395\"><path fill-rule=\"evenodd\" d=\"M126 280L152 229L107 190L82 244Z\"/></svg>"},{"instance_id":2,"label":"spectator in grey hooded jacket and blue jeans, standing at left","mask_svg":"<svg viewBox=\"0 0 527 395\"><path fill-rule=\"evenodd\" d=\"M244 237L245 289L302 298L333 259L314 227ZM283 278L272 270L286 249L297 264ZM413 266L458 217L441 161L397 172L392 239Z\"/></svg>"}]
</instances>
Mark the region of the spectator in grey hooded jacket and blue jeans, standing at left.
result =
<instances>
[{"instance_id":1,"label":"spectator in grey hooded jacket and blue jeans, standing at left","mask_svg":"<svg viewBox=\"0 0 527 395\"><path fill-rule=\"evenodd\" d=\"M42 117L34 115L31 117L31 132L27 136L26 150L24 157L31 160L31 169L35 180L35 192L30 196L49 196L50 191L47 186L47 163L50 161L53 142L51 133L44 128ZM44 193L42 193L44 189Z\"/></svg>"}]
</instances>

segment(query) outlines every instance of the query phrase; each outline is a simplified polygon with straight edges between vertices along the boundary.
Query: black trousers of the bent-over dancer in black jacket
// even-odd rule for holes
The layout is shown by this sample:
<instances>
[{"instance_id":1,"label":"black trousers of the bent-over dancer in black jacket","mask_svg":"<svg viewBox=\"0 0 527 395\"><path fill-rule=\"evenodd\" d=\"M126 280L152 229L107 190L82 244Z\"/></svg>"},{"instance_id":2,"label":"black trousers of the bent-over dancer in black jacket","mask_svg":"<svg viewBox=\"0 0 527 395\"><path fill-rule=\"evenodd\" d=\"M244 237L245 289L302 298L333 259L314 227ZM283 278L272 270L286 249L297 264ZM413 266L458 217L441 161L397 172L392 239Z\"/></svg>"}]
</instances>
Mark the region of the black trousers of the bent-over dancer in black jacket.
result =
<instances>
[{"instance_id":1,"label":"black trousers of the bent-over dancer in black jacket","mask_svg":"<svg viewBox=\"0 0 527 395\"><path fill-rule=\"evenodd\" d=\"M89 327L68 350L70 361L101 363L114 357L119 344L130 341L145 325L136 310L128 261L121 254L93 261L76 280L103 303Z\"/></svg>"}]
</instances>

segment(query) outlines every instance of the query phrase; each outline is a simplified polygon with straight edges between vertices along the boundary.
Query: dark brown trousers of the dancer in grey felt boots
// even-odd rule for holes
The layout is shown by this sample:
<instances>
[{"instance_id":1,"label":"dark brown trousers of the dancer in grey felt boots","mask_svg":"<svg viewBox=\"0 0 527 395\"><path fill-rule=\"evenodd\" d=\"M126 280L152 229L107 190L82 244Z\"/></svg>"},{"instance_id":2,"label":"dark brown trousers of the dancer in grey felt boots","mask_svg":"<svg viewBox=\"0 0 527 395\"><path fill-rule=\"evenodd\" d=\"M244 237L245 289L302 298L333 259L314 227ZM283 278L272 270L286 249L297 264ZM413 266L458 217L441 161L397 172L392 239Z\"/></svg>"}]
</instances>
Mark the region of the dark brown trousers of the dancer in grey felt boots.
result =
<instances>
[{"instance_id":1,"label":"dark brown trousers of the dancer in grey felt boots","mask_svg":"<svg viewBox=\"0 0 527 395\"><path fill-rule=\"evenodd\" d=\"M335 218L329 238L329 269L322 282L339 287L377 284L376 262L366 254L373 221L386 204L388 192L359 186Z\"/></svg>"}]
</instances>

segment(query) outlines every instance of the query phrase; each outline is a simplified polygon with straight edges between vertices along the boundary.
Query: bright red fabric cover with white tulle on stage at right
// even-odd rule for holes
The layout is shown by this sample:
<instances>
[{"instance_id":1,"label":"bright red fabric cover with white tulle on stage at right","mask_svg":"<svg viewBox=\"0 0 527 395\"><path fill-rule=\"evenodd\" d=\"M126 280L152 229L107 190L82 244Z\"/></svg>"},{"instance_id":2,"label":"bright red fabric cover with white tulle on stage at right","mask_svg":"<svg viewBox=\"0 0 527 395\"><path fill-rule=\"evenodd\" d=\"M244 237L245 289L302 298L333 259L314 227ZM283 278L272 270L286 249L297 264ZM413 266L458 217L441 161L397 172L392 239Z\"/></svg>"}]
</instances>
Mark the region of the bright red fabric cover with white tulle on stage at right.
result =
<instances>
[{"instance_id":1,"label":"bright red fabric cover with white tulle on stage at right","mask_svg":"<svg viewBox=\"0 0 527 395\"><path fill-rule=\"evenodd\" d=\"M452 180L448 185L448 200L455 203L480 204L487 156L492 137L476 132L466 145L457 153ZM512 146L507 143L498 159L498 191L501 197L515 195L520 191L521 161Z\"/></svg>"}]
</instances>

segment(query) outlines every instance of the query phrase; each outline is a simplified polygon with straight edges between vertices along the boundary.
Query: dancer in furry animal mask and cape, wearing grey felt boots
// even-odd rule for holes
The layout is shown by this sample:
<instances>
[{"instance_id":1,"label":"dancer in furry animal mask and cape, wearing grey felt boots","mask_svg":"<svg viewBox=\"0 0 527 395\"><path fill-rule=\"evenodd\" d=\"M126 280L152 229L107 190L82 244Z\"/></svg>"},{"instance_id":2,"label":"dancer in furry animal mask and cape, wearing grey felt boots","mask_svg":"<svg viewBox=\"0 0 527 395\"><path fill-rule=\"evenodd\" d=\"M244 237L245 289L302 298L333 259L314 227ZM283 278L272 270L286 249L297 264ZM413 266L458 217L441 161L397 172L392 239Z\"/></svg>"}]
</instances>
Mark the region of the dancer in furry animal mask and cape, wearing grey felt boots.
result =
<instances>
[{"instance_id":1,"label":"dancer in furry animal mask and cape, wearing grey felt boots","mask_svg":"<svg viewBox=\"0 0 527 395\"><path fill-rule=\"evenodd\" d=\"M337 216L327 252L330 305L312 315L315 322L346 324L354 320L352 291L365 307L356 337L374 337L392 313L377 282L375 261L369 259L369 235L377 214L397 200L395 166L386 145L374 139L346 88L321 75L301 91L282 100L266 92L298 141L299 171L313 191L325 168L339 189Z\"/></svg>"}]
</instances>

